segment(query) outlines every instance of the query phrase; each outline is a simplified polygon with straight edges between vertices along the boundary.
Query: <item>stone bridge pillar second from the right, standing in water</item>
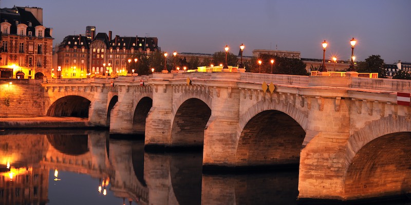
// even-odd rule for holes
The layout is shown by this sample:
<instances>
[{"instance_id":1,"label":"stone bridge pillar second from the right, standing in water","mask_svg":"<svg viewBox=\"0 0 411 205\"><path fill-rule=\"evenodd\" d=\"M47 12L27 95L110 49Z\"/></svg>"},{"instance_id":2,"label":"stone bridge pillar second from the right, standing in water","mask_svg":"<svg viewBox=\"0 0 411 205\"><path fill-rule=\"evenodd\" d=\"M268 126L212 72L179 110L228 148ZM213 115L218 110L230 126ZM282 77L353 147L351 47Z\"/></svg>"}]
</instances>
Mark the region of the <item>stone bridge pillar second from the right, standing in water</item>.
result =
<instances>
[{"instance_id":1,"label":"stone bridge pillar second from the right, standing in water","mask_svg":"<svg viewBox=\"0 0 411 205\"><path fill-rule=\"evenodd\" d=\"M231 87L214 87L210 90L212 112L204 130L203 166L234 167L240 92Z\"/></svg>"}]
</instances>

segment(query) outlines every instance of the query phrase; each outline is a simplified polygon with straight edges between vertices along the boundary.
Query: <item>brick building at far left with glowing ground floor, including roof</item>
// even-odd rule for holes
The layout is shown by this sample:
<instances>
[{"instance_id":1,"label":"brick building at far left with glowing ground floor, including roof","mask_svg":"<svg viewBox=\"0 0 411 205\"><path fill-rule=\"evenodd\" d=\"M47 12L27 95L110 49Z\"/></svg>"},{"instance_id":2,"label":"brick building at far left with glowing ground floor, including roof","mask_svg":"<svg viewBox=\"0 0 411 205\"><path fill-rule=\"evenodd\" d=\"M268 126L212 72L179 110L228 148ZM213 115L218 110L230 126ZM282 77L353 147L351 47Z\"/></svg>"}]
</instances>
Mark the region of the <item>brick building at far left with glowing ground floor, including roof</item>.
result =
<instances>
[{"instance_id":1,"label":"brick building at far left with glowing ground floor, including roof","mask_svg":"<svg viewBox=\"0 0 411 205\"><path fill-rule=\"evenodd\" d=\"M43 9L0 9L2 60L0 77L39 78L52 74L52 29L43 25Z\"/></svg>"}]
</instances>

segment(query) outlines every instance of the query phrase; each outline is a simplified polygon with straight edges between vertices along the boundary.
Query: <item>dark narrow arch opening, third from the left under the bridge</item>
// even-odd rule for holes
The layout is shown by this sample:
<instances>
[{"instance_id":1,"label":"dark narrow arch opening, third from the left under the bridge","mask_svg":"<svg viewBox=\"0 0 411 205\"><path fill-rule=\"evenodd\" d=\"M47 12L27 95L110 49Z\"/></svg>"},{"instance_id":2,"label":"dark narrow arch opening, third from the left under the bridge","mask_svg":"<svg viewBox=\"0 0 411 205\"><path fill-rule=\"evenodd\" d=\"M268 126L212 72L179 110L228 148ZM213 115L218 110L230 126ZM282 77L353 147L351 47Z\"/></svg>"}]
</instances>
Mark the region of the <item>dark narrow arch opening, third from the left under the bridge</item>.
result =
<instances>
[{"instance_id":1,"label":"dark narrow arch opening, third from the left under the bridge","mask_svg":"<svg viewBox=\"0 0 411 205\"><path fill-rule=\"evenodd\" d=\"M153 107L153 99L150 97L143 97L138 102L136 110L133 115L133 127L136 129L138 134L145 133L145 118L151 107Z\"/></svg>"}]
</instances>

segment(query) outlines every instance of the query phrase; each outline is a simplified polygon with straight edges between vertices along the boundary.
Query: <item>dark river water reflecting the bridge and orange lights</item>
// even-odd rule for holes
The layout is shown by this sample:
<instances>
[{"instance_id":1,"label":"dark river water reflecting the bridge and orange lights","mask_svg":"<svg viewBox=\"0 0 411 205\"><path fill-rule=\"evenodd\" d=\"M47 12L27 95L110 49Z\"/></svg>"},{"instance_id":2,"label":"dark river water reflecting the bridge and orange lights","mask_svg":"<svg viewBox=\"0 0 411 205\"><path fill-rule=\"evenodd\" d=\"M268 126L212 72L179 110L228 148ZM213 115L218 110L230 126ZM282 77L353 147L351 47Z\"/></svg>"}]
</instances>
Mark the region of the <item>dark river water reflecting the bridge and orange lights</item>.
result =
<instances>
[{"instance_id":1,"label":"dark river water reflecting the bridge and orange lights","mask_svg":"<svg viewBox=\"0 0 411 205\"><path fill-rule=\"evenodd\" d=\"M296 204L297 170L202 174L202 153L145 153L107 131L0 132L0 204Z\"/></svg>"}]
</instances>

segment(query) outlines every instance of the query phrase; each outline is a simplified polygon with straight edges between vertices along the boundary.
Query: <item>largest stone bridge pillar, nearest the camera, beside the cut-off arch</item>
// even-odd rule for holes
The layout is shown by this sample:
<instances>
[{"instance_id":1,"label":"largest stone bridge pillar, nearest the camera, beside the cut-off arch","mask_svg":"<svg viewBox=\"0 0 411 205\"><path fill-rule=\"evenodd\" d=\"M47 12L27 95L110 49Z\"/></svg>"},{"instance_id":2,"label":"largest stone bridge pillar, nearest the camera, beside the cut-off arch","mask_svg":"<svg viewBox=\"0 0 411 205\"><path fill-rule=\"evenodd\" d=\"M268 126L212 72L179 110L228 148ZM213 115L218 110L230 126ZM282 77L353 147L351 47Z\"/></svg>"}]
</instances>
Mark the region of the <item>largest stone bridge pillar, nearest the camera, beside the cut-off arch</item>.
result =
<instances>
[{"instance_id":1,"label":"largest stone bridge pillar, nearest the camera, beside the cut-off arch","mask_svg":"<svg viewBox=\"0 0 411 205\"><path fill-rule=\"evenodd\" d=\"M350 101L307 98L308 130L300 153L298 198L342 199L350 136Z\"/></svg>"}]
</instances>

